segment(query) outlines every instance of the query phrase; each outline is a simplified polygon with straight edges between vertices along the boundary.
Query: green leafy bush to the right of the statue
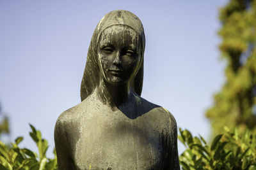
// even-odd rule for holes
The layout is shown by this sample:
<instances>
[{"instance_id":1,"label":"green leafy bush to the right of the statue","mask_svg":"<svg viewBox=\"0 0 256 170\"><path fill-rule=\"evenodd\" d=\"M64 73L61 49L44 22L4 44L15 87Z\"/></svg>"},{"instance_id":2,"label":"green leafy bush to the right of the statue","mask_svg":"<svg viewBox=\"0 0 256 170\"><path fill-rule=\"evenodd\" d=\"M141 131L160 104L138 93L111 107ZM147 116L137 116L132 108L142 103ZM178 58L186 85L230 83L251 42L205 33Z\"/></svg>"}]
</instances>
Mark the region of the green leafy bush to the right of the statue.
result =
<instances>
[{"instance_id":1,"label":"green leafy bush to the right of the statue","mask_svg":"<svg viewBox=\"0 0 256 170\"><path fill-rule=\"evenodd\" d=\"M179 140L186 146L180 155L180 165L184 170L255 170L256 134L248 129L239 135L227 127L225 133L217 135L211 145L202 136L193 137L188 130L180 131Z\"/></svg>"}]
</instances>

